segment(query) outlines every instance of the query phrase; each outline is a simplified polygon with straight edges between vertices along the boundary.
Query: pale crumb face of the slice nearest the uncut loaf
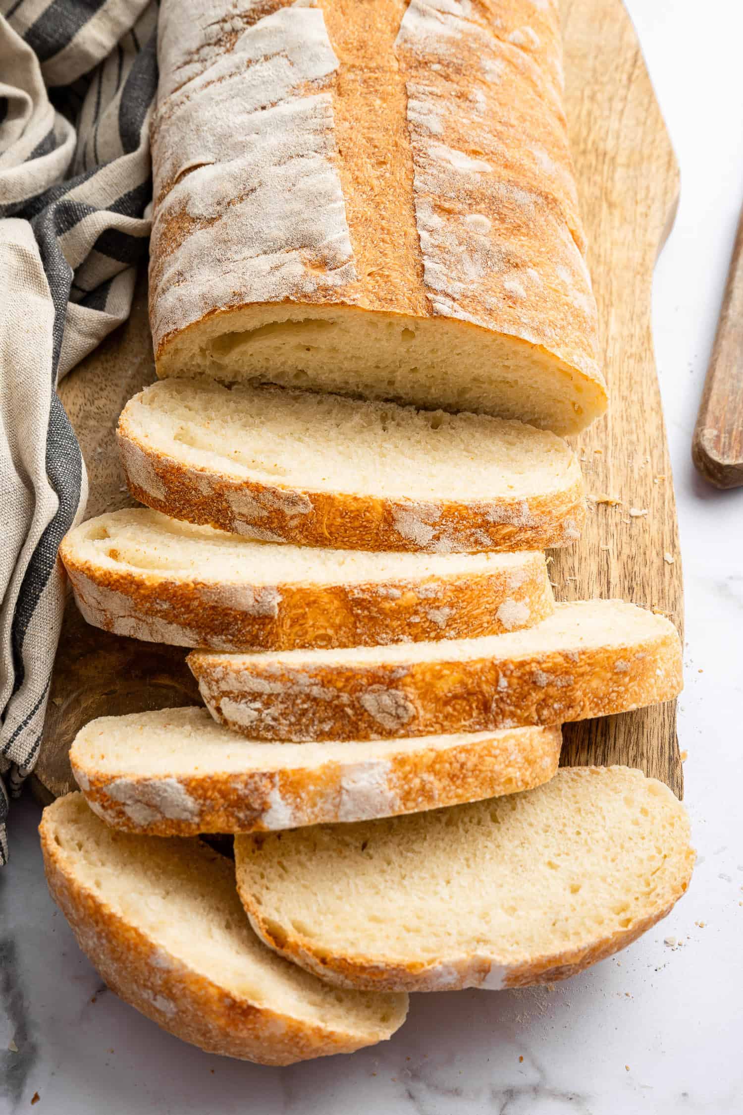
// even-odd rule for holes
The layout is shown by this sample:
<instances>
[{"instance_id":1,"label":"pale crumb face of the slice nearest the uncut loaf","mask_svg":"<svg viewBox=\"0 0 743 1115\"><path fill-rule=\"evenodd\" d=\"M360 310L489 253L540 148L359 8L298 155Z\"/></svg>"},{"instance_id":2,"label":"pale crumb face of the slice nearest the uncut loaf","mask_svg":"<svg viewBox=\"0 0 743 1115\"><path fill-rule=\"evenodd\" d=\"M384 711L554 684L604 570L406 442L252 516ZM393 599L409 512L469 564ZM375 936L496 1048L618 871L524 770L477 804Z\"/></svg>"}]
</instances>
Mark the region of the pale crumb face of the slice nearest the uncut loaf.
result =
<instances>
[{"instance_id":1,"label":"pale crumb face of the slice nearest the uncut loaf","mask_svg":"<svg viewBox=\"0 0 743 1115\"><path fill-rule=\"evenodd\" d=\"M150 454L289 495L477 503L548 495L580 478L567 443L519 421L248 384L160 380L129 400L121 427ZM265 513L258 505L256 516Z\"/></svg>"}]
</instances>

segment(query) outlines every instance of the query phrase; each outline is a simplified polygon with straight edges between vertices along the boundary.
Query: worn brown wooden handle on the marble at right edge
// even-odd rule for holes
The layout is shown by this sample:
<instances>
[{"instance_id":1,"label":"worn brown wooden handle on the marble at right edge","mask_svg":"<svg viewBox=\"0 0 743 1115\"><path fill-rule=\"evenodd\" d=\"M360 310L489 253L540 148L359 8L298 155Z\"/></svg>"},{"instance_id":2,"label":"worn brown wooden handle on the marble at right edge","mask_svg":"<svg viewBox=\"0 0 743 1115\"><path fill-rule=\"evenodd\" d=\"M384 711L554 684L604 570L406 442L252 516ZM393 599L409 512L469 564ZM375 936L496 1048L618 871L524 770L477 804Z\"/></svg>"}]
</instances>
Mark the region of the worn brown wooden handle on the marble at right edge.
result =
<instances>
[{"instance_id":1,"label":"worn brown wooden handle on the marble at right edge","mask_svg":"<svg viewBox=\"0 0 743 1115\"><path fill-rule=\"evenodd\" d=\"M696 418L692 458L716 487L743 484L743 212Z\"/></svg>"}]
</instances>

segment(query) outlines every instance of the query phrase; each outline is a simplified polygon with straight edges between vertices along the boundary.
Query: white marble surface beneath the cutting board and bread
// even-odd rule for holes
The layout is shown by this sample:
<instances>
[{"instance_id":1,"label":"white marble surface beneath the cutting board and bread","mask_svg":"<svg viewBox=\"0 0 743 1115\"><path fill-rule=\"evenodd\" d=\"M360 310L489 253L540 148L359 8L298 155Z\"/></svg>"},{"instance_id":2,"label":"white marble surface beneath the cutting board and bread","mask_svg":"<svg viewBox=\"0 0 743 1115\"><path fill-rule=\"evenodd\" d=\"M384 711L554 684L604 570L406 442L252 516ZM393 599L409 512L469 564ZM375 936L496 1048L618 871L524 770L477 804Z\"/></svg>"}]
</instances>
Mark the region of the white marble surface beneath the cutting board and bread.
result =
<instances>
[{"instance_id":1,"label":"white marble surface beneath the cutting board and bread","mask_svg":"<svg viewBox=\"0 0 743 1115\"><path fill-rule=\"evenodd\" d=\"M0 878L2 1115L27 1111L35 1093L39 1115L743 1111L743 491L713 492L690 463L743 202L743 4L628 7L683 182L654 323L686 588L680 735L700 853L690 893L618 958L554 990L417 996L383 1046L260 1068L182 1045L101 987L47 894L38 809L25 801Z\"/></svg>"}]
</instances>

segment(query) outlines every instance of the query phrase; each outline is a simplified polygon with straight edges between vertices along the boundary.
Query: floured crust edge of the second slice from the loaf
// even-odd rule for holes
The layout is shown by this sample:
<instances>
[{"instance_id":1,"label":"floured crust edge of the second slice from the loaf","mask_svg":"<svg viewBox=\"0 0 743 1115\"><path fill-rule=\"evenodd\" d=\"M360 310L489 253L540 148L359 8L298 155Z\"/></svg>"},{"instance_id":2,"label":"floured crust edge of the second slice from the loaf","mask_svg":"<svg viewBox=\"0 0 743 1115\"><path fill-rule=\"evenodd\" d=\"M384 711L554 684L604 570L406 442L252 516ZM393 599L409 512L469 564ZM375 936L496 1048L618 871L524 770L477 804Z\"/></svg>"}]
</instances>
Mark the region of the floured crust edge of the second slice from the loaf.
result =
<instances>
[{"instance_id":1,"label":"floured crust edge of the second slice from the loaf","mask_svg":"<svg viewBox=\"0 0 743 1115\"><path fill-rule=\"evenodd\" d=\"M490 634L538 623L554 599L541 554L507 571L360 583L227 584L111 570L60 556L82 617L115 634L221 651L378 646ZM521 571L519 570L519 573Z\"/></svg>"}]
</instances>

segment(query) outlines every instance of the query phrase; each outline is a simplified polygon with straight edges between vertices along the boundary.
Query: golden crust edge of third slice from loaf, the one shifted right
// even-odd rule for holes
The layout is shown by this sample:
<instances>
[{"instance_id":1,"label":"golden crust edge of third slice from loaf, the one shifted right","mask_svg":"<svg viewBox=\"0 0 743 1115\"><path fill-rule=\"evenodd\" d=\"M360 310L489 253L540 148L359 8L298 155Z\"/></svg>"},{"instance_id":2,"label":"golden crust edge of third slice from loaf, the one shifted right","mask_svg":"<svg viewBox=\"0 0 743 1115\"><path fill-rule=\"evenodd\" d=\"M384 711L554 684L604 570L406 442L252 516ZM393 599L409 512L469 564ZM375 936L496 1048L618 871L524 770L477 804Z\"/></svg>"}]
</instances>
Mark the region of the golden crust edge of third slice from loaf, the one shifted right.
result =
<instances>
[{"instance_id":1,"label":"golden crust edge of third slice from loaf, the one shifted right","mask_svg":"<svg viewBox=\"0 0 743 1115\"><path fill-rule=\"evenodd\" d=\"M516 660L307 662L296 667L192 651L204 701L254 739L387 739L558 724L671 700L682 653L668 624L630 646Z\"/></svg>"}]
</instances>

